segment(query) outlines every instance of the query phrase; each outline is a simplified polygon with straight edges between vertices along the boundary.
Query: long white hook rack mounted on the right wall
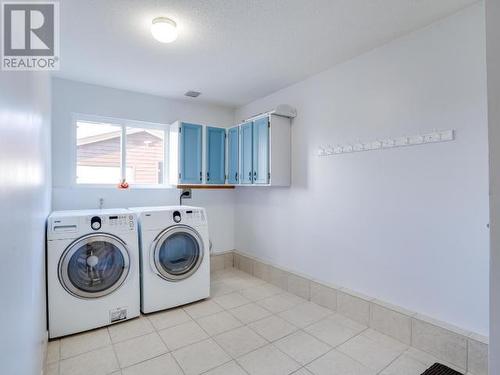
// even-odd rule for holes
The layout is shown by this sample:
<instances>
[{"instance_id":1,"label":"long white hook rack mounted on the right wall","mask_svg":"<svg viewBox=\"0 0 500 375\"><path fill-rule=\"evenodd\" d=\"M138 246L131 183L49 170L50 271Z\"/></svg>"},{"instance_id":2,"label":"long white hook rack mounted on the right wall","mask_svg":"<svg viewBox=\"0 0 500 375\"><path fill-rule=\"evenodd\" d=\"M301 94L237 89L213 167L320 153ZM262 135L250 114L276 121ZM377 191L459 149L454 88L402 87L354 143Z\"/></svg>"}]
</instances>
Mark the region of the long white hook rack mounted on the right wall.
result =
<instances>
[{"instance_id":1,"label":"long white hook rack mounted on the right wall","mask_svg":"<svg viewBox=\"0 0 500 375\"><path fill-rule=\"evenodd\" d=\"M455 130L434 131L427 134L403 136L397 138L377 139L369 142L356 142L344 145L320 146L318 156L331 156L351 152L383 150L394 147L416 146L426 143L450 142L455 140Z\"/></svg>"}]
</instances>

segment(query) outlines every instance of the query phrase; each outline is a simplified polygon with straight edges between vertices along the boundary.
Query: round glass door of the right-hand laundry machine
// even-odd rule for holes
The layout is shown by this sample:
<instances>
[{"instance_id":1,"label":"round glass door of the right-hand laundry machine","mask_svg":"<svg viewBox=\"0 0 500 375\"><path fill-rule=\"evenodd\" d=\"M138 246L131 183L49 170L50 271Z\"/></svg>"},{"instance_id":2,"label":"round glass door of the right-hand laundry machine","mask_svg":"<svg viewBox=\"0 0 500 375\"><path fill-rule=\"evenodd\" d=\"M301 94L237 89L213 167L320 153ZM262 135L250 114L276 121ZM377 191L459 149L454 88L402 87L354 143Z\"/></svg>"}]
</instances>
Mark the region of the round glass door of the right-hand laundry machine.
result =
<instances>
[{"instance_id":1,"label":"round glass door of the right-hand laundry machine","mask_svg":"<svg viewBox=\"0 0 500 375\"><path fill-rule=\"evenodd\" d=\"M203 258L200 235L190 227L178 225L158 237L154 251L155 266L160 276L178 281L191 276Z\"/></svg>"}]
</instances>

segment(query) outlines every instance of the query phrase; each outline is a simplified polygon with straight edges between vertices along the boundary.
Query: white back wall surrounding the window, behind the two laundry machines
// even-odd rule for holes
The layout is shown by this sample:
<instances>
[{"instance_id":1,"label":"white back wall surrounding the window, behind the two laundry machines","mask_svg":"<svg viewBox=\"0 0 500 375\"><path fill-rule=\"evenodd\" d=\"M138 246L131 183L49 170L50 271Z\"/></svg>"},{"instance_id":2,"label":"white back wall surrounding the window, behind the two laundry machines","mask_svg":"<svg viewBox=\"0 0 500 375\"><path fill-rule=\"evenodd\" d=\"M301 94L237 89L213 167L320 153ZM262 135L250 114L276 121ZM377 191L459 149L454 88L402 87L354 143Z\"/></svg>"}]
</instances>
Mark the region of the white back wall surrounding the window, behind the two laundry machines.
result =
<instances>
[{"instance_id":1,"label":"white back wall surrounding the window, behind the two laundry machines","mask_svg":"<svg viewBox=\"0 0 500 375\"><path fill-rule=\"evenodd\" d=\"M167 84L167 83L166 83ZM71 180L72 113L109 116L170 124L175 120L228 126L233 122L231 108L170 100L158 96L116 90L63 79L53 80L53 209L99 207L160 206L178 204L177 189L130 189L75 187ZM234 248L234 191L193 190L185 204L205 207L208 212L213 250Z\"/></svg>"}]
</instances>

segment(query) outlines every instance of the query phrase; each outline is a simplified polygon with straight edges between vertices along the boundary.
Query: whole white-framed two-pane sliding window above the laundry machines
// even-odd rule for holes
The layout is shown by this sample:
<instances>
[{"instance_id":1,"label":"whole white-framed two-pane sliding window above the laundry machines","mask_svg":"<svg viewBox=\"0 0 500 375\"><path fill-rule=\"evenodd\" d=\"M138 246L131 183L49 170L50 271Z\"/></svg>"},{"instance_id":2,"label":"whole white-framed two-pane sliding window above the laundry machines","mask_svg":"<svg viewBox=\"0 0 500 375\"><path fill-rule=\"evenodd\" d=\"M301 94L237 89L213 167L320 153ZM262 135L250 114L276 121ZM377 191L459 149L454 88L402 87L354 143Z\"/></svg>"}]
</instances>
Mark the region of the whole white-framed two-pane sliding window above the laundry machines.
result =
<instances>
[{"instance_id":1,"label":"whole white-framed two-pane sliding window above the laundry machines","mask_svg":"<svg viewBox=\"0 0 500 375\"><path fill-rule=\"evenodd\" d=\"M76 183L163 185L167 127L77 116Z\"/></svg>"}]
</instances>

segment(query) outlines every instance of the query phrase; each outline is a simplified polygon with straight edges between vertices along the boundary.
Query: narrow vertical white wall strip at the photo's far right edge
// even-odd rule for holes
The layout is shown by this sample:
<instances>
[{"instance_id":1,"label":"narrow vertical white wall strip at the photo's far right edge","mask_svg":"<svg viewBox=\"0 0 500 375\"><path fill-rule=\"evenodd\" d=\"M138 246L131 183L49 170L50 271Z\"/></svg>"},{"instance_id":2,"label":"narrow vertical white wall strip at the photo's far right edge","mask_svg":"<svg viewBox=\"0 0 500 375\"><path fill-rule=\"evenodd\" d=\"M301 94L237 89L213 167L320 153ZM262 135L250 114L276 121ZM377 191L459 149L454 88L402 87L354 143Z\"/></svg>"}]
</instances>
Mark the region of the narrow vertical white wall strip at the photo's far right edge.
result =
<instances>
[{"instance_id":1,"label":"narrow vertical white wall strip at the photo's far right edge","mask_svg":"<svg viewBox=\"0 0 500 375\"><path fill-rule=\"evenodd\" d=\"M500 374L500 2L486 1L490 142L490 374Z\"/></svg>"}]
</instances>

